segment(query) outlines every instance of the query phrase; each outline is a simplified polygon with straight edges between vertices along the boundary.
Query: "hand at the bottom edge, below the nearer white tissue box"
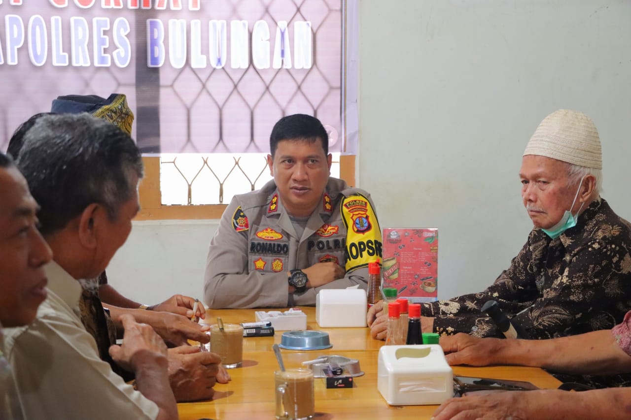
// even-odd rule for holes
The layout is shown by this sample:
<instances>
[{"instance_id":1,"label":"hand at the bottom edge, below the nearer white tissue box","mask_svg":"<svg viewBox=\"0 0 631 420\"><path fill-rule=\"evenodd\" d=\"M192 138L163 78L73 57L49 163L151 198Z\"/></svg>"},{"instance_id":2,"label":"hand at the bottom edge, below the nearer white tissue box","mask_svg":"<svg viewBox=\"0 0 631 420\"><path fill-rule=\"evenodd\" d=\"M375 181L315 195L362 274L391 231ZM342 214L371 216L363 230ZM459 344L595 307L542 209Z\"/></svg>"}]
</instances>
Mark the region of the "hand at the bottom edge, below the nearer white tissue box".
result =
<instances>
[{"instance_id":1,"label":"hand at the bottom edge, below the nearer white tissue box","mask_svg":"<svg viewBox=\"0 0 631 420\"><path fill-rule=\"evenodd\" d=\"M534 393L538 393L538 391L504 391L493 392L492 394L475 392L473 395L445 401L434 412L432 419L528 420L531 418L529 417L529 397L541 399L540 396L542 395ZM546 404L554 404L554 401L548 400Z\"/></svg>"}]
</instances>

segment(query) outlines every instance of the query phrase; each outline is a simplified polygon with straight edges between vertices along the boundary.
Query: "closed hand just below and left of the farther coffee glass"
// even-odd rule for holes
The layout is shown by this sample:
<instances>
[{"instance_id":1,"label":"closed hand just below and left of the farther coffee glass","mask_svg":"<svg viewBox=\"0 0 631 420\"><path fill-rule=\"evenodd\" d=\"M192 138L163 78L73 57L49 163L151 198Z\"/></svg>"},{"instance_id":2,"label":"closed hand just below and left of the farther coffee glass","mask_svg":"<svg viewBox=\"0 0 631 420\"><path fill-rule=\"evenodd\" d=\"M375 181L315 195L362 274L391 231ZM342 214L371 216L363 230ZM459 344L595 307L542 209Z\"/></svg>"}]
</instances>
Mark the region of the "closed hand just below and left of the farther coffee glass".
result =
<instances>
[{"instance_id":1,"label":"closed hand just below and left of the farther coffee glass","mask_svg":"<svg viewBox=\"0 0 631 420\"><path fill-rule=\"evenodd\" d=\"M199 347L181 346L168 350L168 382L177 402L208 400L213 397L220 375L218 354ZM225 372L222 375L228 375ZM221 376L226 380L225 376ZM230 380L227 376L226 382ZM225 383L225 382L224 382Z\"/></svg>"}]
</instances>

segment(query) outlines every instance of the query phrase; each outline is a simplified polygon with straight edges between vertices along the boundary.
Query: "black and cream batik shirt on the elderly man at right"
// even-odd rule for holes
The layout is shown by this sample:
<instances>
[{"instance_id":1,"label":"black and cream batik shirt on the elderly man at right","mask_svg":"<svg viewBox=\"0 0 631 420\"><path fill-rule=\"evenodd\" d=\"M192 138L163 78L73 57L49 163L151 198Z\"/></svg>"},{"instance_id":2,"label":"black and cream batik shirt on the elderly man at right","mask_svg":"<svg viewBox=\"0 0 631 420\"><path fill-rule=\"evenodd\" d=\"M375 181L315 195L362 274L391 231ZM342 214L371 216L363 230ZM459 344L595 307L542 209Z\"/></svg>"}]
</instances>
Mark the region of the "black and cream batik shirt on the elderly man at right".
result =
<instances>
[{"instance_id":1,"label":"black and cream batik shirt on the elderly man at right","mask_svg":"<svg viewBox=\"0 0 631 420\"><path fill-rule=\"evenodd\" d=\"M422 304L433 329L501 337L480 312L488 301L522 331L548 339L611 329L631 310L631 225L604 199L594 200L577 225L551 239L535 228L509 269L481 293Z\"/></svg>"}]
</instances>

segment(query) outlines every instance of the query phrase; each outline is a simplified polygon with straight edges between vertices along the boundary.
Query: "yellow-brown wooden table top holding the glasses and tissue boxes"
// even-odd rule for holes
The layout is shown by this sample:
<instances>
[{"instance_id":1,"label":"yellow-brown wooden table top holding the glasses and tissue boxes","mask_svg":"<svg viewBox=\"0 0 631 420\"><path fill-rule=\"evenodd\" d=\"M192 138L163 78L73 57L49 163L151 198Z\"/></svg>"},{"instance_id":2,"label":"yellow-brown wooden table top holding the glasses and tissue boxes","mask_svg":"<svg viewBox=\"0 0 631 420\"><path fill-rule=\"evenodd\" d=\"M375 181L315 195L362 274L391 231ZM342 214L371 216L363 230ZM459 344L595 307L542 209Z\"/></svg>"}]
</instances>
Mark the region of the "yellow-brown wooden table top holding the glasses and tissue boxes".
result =
<instances>
[{"instance_id":1,"label":"yellow-brown wooden table top holding the glasses and tissue boxes","mask_svg":"<svg viewBox=\"0 0 631 420\"><path fill-rule=\"evenodd\" d=\"M315 379L315 419L429 419L435 405L391 407L377 390L377 357L382 341L370 337L367 328L324 328L315 322L315 309L302 308L307 313L307 328L329 332L333 347L324 351L283 350L288 368L299 367L302 361L321 354L337 354L360 361L365 375L355 378L353 388L327 389L324 379ZM253 322L254 310L213 310L207 321L238 324ZM280 342L282 332L274 337L244 338L244 365L230 370L232 381L215 386L211 401L178 404L180 419L274 419L274 370L278 369L272 351ZM540 388L556 388L560 382L539 368L489 366L468 368L454 366L454 375L482 376L508 380L525 380Z\"/></svg>"}]
</instances>

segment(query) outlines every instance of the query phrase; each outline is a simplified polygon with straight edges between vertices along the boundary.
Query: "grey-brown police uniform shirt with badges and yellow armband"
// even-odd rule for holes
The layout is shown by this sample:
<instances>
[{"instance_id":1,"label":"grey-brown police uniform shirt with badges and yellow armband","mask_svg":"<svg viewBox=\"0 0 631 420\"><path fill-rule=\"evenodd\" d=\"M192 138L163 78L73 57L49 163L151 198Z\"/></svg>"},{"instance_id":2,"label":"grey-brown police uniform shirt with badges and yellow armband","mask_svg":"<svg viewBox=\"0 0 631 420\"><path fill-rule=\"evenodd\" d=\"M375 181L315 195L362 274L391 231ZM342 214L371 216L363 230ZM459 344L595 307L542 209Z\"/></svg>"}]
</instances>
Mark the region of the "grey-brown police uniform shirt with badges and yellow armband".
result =
<instances>
[{"instance_id":1,"label":"grey-brown police uniform shirt with badges and yellow armband","mask_svg":"<svg viewBox=\"0 0 631 420\"><path fill-rule=\"evenodd\" d=\"M368 262L381 259L381 230L367 192L329 178L302 235L296 232L273 180L235 195L210 243L206 303L211 308L315 305L319 289L367 288ZM345 277L288 293L287 272L318 262L340 264Z\"/></svg>"}]
</instances>

